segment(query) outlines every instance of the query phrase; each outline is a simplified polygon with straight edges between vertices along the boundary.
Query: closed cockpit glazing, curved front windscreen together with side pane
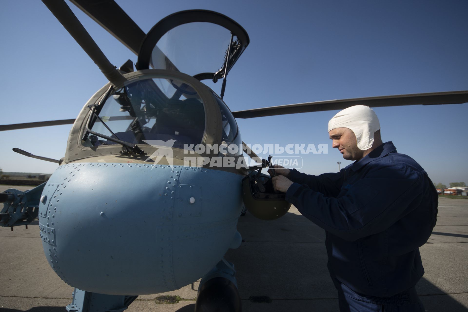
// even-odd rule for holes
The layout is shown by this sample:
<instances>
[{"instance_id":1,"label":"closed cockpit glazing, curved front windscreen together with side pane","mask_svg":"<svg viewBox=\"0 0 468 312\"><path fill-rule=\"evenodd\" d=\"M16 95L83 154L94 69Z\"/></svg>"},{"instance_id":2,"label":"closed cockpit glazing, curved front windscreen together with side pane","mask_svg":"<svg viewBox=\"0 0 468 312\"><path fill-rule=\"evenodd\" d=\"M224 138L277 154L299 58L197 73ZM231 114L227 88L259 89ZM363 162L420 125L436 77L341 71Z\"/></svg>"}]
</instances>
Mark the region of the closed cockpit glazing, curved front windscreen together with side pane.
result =
<instances>
[{"instance_id":1,"label":"closed cockpit glazing, curved front windscreen together with side pane","mask_svg":"<svg viewBox=\"0 0 468 312\"><path fill-rule=\"evenodd\" d=\"M206 109L221 113L222 136L217 143L241 145L234 116L216 94L207 92L202 96L188 81L175 77L154 78L154 75L139 77L110 92L106 100L95 107L97 117L89 116L89 128L96 133L85 132L81 144L85 147L118 145L111 139L138 145L171 142L170 147L180 149L203 144L206 143L205 132L213 129L212 124L207 124Z\"/></svg>"}]
</instances>

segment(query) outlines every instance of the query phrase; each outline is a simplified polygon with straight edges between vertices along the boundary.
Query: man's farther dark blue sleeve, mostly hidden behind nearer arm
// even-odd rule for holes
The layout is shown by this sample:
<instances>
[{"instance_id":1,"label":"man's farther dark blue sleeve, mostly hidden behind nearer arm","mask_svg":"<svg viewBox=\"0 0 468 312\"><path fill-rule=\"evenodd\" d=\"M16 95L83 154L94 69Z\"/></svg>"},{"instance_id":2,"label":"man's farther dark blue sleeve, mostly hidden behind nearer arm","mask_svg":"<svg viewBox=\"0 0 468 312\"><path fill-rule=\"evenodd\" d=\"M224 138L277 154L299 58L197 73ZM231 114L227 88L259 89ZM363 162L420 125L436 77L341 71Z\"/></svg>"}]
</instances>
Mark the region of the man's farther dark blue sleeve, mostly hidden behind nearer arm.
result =
<instances>
[{"instance_id":1,"label":"man's farther dark blue sleeve, mostly hidden behind nearer arm","mask_svg":"<svg viewBox=\"0 0 468 312\"><path fill-rule=\"evenodd\" d=\"M306 184L309 189L320 192L327 197L336 197L343 184L344 170L341 169L340 172L336 173L310 175L292 169L288 179L299 184Z\"/></svg>"}]
</instances>

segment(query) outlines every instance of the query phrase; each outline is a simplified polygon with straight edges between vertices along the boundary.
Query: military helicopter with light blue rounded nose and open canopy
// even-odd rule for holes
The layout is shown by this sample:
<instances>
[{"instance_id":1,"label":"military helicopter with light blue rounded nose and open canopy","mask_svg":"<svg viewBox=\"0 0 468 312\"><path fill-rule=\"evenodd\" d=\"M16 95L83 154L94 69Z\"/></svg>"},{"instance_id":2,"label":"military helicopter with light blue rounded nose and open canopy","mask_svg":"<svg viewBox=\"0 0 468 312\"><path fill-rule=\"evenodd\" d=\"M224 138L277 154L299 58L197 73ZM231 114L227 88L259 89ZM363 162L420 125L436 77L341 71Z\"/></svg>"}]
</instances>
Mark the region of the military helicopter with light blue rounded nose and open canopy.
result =
<instances>
[{"instance_id":1,"label":"military helicopter with light blue rounded nose and open canopy","mask_svg":"<svg viewBox=\"0 0 468 312\"><path fill-rule=\"evenodd\" d=\"M54 6L59 6L58 2L54 4L50 1L44 2L49 2L51 10ZM222 101L223 89L218 96L200 81L203 82L202 78L207 77L208 80L222 80L224 81L223 85L226 85L227 73L237 62L243 49L249 44L249 37L245 35L242 37L243 29L239 28L238 24L236 25L235 22L231 24L231 26L237 26L237 29L228 29L230 31L227 32L227 54L221 69L217 68L216 72L205 73L202 71L189 75L176 70L177 64L172 63L172 58L167 55L168 53L161 54L160 51L154 51L155 48L158 48L158 40L167 31L185 24L188 19L187 15L193 14L195 17L190 18L196 22L200 22L198 20L200 15L204 15L203 18L207 18L206 15L211 15L216 19L227 18L226 16L201 10L179 12L178 14L185 15L183 18L180 17L182 15L178 14L170 15L152 29L152 31L155 30L156 34L160 33L160 38L154 39L151 35L152 31L146 35L143 34L143 37L153 38L154 41L153 44L149 44L148 52L144 49L145 42L141 44L141 41L137 40L137 44L132 45L128 41L142 37L134 36L132 33L129 36L128 29L135 29L135 25L131 20L128 20L128 16L122 15L115 2L108 1L109 7L106 7L105 10L99 8L96 10L96 7L90 5L89 1L72 2L102 24L104 28L109 29L126 46L133 46L131 49L135 50L134 52L139 49L137 52L139 57L146 53L151 58L146 59L146 63L148 63L146 65L143 64L144 58L141 62L139 59L136 71L133 71L132 63L125 63L121 66L121 72L115 70L112 65L107 66L104 71L111 81L93 95L76 119L40 124L6 125L2 128L2 130L12 130L73 122L70 140L74 141L69 145L64 159L57 160L59 168L51 180L43 186L43 189L34 189L28 193L9 190L9 193L3 197L7 199L7 203L12 204L2 210L2 213L8 214L2 218L4 226L24 225L30 222L29 219L35 217L34 213L37 212L44 252L46 257L50 258L51 268L66 283L76 286L73 303L68 307L69 311L81 309L82 307L79 308L78 305L80 305L80 300L83 304L84 298L88 296L87 293L94 294L92 299L88 300L95 300L97 303L110 300L113 305L120 305L114 306L114 308L124 309L134 300L136 295L173 290L202 276L206 277L205 281L210 281L213 276L216 278L219 275L222 275L229 282L227 285L231 292L227 296L234 297L234 299L229 298L229 300L237 302L235 300L236 289L233 287L235 286L234 268L231 263L224 261L222 256L227 248L238 246L240 241L240 233L236 232L235 225L242 212L241 181L249 175L249 172L256 172L266 165L262 165L260 168L229 171L230 169L224 168L210 169L199 164L187 166L183 163L183 159L177 157L174 157L172 163L167 160L168 163L159 162L155 165L149 156L160 150L161 145L155 147L151 144L145 144L146 142L137 138L137 135L145 137L145 140L157 139L165 142L177 138L175 143L178 144L176 145L178 147L174 149L175 151L177 148L183 147L184 144L203 142L208 145L229 141L229 130L237 128L232 117L252 118L284 113L342 109L363 102L371 107L467 102L467 91L461 91L322 101L231 112ZM57 15L63 18L64 12L67 10L62 6L57 8L55 12L58 12ZM99 14L104 14L104 16ZM106 16L113 17L114 25L112 25L112 19L110 24L102 22L109 21ZM174 17L176 20L182 20L183 24L177 25L177 22L173 20ZM70 22L73 18L67 15L65 20L64 23ZM132 23L132 26L125 25L124 21ZM208 22L209 19L202 21ZM226 21L232 22L230 19ZM173 27L166 32L160 30L159 26L164 25L164 22ZM118 24L118 27L115 24ZM117 29L113 27L117 27ZM78 29L76 25L70 28L72 31ZM125 30L119 34L118 29L122 30L122 28ZM238 32L235 32L236 30ZM130 39L125 38L125 35ZM135 46L138 46L138 49ZM142 49L146 52L143 52ZM226 44L222 50L224 49L226 49ZM160 61L162 59L159 65L166 66L164 69L160 69L159 65L156 65L156 57L158 56L161 57L158 58ZM153 69L149 69L149 67ZM218 77L216 77L217 73ZM197 76L197 74L201 75ZM197 77L194 78L194 76ZM165 90L166 93L161 90ZM168 93L168 90L171 93ZM137 110L134 102L143 106L140 105L139 110ZM158 103L158 105L153 105L153 103ZM188 103L194 104L194 107L186 109L183 104ZM200 103L203 104L202 107L200 107ZM109 110L106 111L106 109ZM180 118L183 123L178 125L179 128L170 129L170 124L156 122L158 117L163 117L162 120L167 121L173 117L170 113L184 115ZM197 118L191 120L191 116L197 116ZM112 120L112 117L118 118ZM197 124L197 121L199 122L203 117L205 118L204 124ZM112 126L111 122L116 122L116 126ZM115 128L120 128L117 123L122 122L126 122L124 131L116 131ZM173 121L174 123L176 120ZM227 125L229 125L228 128ZM129 139L126 134L131 134L133 138ZM156 136L146 138L146 134L156 134ZM235 135L232 137L232 140L236 139ZM240 136L237 138L237 143L241 144L239 139ZM170 146L170 148L173 147L174 145ZM105 152L102 152L104 150ZM31 156L27 152L20 150L18 152ZM207 157L203 153L200 155ZM252 155L255 157L254 154ZM150 174L147 174L148 172ZM220 180L223 181L223 185L210 183ZM161 189L155 189L157 185ZM69 192L70 189L75 194L67 195L67 191ZM226 192L226 189L229 191ZM216 202L219 194L225 197L226 203L229 203L224 205L223 211L219 211L211 205L211 203ZM24 201L24 198L27 198L28 201ZM25 207L24 210L17 208L18 205L14 205L15 201L19 199L22 201L17 204L19 207ZM183 203L176 203L176 201ZM21 203L23 204L21 205ZM76 205L73 206L73 203ZM107 204L112 204L113 210L108 210L105 206ZM39 208L38 211L29 209L36 207ZM154 207L158 207L158 210L155 211ZM64 209L68 210L68 213L73 213L73 216L65 217ZM89 216L87 212L89 212ZM12 214L17 213L21 213L21 215L12 216ZM13 224L11 223L14 220L12 217L16 218ZM144 220L158 218L161 223L156 228L149 224L145 226L146 221ZM194 220L194 218L197 219ZM221 222L226 219L229 222ZM20 222L16 223L17 221ZM128 230L124 231L127 232L124 235L122 235L120 228L112 229L112 226L120 223L123 223ZM88 226L93 224L96 226ZM212 228L210 229L208 225ZM80 230L80 239L74 237L74 239L70 238L71 240L64 240L65 231L76 230L77 226L81 226L79 228L83 229ZM142 237L150 237L152 241L156 241L156 246L153 246L152 250L148 249L147 242L141 239ZM201 238L207 237L211 237L212 240L202 241ZM157 242L158 239L160 242ZM95 246L93 248L85 247L90 241L93 241ZM117 257L120 259L116 259L117 261L113 261L114 258L111 258L112 261L102 261L104 254L108 255L111 251L119 250L122 245L130 245L134 249L128 254L119 254ZM77 246L82 247L78 248ZM72 247L76 247L76 250ZM79 254L79 250L81 250L81 254ZM83 253L85 254L83 255ZM174 261L175 258L178 261ZM117 265L113 262L117 262ZM156 262L163 263L163 265L156 267L154 264ZM166 264L166 262L169 263ZM154 271L148 272L147 268L152 267L154 267ZM89 268L92 269L89 270ZM140 271L138 271L139 268ZM109 272L105 273L106 270ZM171 271L173 272L172 276ZM230 273L226 273L226 271ZM226 281L221 283L226 283ZM205 285L210 286L206 283ZM208 293L209 291L210 289L208 289ZM200 294L202 292L204 291L202 290ZM200 298L203 297L200 295ZM235 306L235 304L232 305Z\"/></svg>"}]
</instances>

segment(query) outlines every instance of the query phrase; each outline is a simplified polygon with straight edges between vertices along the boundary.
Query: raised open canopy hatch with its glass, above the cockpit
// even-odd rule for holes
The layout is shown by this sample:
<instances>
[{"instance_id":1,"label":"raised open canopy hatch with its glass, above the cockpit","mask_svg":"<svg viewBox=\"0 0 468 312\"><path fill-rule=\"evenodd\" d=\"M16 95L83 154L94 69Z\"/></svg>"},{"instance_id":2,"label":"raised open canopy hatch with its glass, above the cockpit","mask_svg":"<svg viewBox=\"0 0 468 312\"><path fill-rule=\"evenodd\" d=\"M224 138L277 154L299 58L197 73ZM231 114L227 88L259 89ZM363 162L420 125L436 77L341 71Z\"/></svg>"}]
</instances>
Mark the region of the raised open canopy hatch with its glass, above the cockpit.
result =
<instances>
[{"instance_id":1,"label":"raised open canopy hatch with its glass, above the cockpit","mask_svg":"<svg viewBox=\"0 0 468 312\"><path fill-rule=\"evenodd\" d=\"M247 32L225 15L181 11L163 18L148 32L137 69L167 69L216 82L229 72L248 44Z\"/></svg>"}]
</instances>

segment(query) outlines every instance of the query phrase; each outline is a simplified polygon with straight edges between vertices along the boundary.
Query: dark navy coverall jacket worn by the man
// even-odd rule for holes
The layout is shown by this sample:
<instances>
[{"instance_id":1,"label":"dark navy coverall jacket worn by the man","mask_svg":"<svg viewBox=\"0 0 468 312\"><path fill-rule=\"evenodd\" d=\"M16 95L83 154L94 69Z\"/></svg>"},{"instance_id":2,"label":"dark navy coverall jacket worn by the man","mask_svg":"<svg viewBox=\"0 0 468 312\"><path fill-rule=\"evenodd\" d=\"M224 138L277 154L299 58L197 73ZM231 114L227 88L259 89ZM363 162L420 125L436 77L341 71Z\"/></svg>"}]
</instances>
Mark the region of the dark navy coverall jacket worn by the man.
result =
<instances>
[{"instance_id":1,"label":"dark navy coverall jacket worn by the man","mask_svg":"<svg viewBox=\"0 0 468 312\"><path fill-rule=\"evenodd\" d=\"M391 141L338 173L293 169L288 178L286 200L326 231L333 278L365 296L404 297L423 276L418 247L436 223L438 195Z\"/></svg>"}]
</instances>

